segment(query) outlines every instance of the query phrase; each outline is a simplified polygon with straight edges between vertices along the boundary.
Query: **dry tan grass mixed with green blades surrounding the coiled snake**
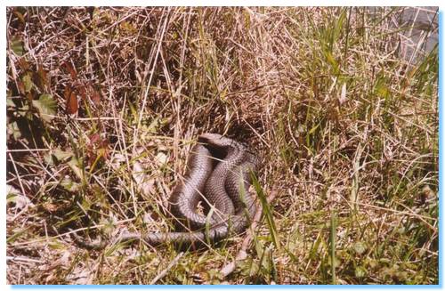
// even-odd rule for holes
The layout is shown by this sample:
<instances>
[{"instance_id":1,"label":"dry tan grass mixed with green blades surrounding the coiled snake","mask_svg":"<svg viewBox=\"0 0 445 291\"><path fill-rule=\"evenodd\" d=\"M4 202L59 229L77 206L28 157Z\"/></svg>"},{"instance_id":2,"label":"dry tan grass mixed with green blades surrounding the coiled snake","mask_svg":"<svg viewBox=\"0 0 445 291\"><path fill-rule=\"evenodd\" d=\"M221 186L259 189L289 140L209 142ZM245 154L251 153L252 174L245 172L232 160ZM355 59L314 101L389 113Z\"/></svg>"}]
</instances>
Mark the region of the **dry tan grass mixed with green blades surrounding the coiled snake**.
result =
<instances>
[{"instance_id":1,"label":"dry tan grass mixed with green blades surrounding the coiled snake","mask_svg":"<svg viewBox=\"0 0 445 291\"><path fill-rule=\"evenodd\" d=\"M437 284L438 50L401 59L400 12L8 8L8 283ZM243 236L76 246L69 227L169 230L205 132L278 193L228 278Z\"/></svg>"}]
</instances>

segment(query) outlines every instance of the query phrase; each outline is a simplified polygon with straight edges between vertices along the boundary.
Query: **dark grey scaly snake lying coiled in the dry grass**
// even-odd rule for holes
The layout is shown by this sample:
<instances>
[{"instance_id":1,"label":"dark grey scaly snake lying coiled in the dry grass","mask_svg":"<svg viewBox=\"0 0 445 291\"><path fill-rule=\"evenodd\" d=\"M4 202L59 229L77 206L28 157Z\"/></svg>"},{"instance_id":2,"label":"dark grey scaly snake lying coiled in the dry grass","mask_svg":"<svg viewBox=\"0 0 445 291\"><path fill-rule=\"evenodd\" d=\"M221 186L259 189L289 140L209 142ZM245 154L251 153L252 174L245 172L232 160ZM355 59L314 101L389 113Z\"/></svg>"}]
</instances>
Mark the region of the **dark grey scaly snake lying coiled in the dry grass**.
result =
<instances>
[{"instance_id":1,"label":"dark grey scaly snake lying coiled in the dry grass","mask_svg":"<svg viewBox=\"0 0 445 291\"><path fill-rule=\"evenodd\" d=\"M258 165L247 148L217 133L198 137L192 148L184 179L176 183L169 198L170 211L186 230L175 232L125 233L115 243L142 240L154 246L217 242L244 231L255 215L255 199L249 193L251 171ZM207 214L198 214L199 201L205 201ZM73 232L82 247L99 249L107 242L86 242Z\"/></svg>"}]
</instances>

